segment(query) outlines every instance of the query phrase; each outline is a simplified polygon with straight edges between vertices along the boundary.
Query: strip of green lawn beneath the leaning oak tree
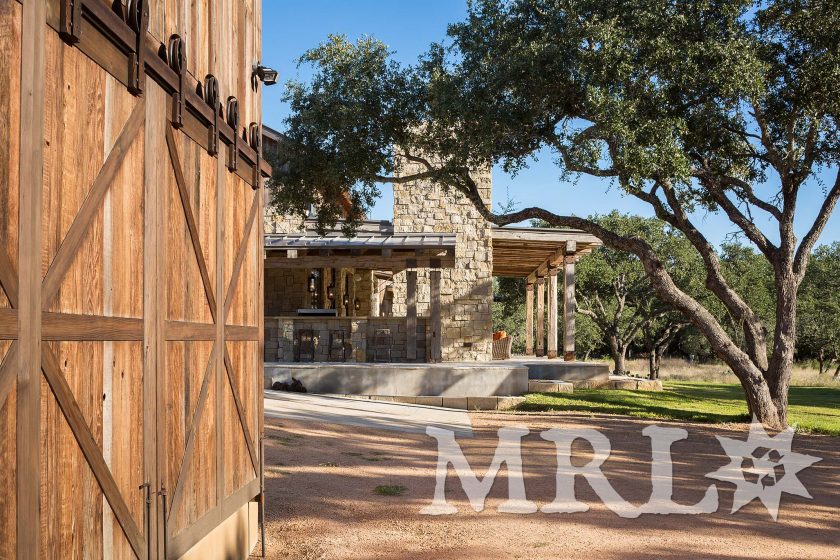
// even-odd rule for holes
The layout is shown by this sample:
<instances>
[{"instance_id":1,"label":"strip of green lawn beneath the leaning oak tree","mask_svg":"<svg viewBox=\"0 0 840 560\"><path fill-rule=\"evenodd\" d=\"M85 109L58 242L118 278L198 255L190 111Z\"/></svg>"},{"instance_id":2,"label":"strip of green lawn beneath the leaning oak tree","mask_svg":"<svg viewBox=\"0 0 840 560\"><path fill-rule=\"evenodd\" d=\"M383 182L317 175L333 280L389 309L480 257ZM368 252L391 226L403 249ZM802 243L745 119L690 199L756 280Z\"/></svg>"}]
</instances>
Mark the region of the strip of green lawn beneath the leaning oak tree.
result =
<instances>
[{"instance_id":1,"label":"strip of green lawn beneath the leaning oak tree","mask_svg":"<svg viewBox=\"0 0 840 560\"><path fill-rule=\"evenodd\" d=\"M740 385L665 381L663 391L575 389L574 393L530 393L518 409L624 414L694 422L748 422ZM840 388L791 387L788 421L802 432L840 435Z\"/></svg>"}]
</instances>

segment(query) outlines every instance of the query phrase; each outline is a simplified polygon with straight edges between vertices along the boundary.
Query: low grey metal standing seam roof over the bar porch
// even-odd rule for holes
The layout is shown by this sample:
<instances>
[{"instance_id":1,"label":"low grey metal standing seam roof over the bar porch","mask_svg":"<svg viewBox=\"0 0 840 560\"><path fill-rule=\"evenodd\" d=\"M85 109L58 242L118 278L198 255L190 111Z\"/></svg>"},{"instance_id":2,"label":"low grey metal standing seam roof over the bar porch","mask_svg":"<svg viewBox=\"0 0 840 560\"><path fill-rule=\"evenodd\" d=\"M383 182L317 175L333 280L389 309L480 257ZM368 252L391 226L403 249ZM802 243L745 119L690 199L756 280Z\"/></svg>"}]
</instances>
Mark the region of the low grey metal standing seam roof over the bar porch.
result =
<instances>
[{"instance_id":1,"label":"low grey metal standing seam roof over the bar porch","mask_svg":"<svg viewBox=\"0 0 840 560\"><path fill-rule=\"evenodd\" d=\"M265 235L266 249L450 249L454 247L454 233L360 233L355 237L345 237L340 233L325 236L298 233Z\"/></svg>"}]
</instances>

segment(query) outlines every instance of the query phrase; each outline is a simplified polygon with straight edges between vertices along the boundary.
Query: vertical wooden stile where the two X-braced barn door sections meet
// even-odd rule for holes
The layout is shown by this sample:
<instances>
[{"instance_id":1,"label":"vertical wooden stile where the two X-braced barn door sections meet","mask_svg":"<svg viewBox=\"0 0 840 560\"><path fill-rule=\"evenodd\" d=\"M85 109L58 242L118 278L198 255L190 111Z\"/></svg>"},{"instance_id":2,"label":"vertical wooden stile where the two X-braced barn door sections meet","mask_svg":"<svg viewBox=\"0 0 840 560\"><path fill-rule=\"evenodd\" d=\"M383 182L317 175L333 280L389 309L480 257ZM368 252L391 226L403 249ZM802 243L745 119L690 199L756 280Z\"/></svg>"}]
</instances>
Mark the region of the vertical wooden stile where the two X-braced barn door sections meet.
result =
<instances>
[{"instance_id":1,"label":"vertical wooden stile where the two X-braced barn door sections meet","mask_svg":"<svg viewBox=\"0 0 840 560\"><path fill-rule=\"evenodd\" d=\"M163 380L164 367L162 340L163 315L166 309L165 291L161 278L165 268L161 267L164 253L163 232L165 231L164 206L166 204L165 187L167 185L166 167L160 158L166 154L165 117L166 99L164 92L151 79L146 79L146 128L144 157L144 208L145 221L143 232L143 446L145 482L150 485L150 492L159 488L158 456L160 446L165 443L165 426L162 416L158 415L158 382ZM158 441L160 439L161 441ZM157 558L162 552L162 533L159 508L152 501L150 515L146 520L150 557Z\"/></svg>"}]
</instances>

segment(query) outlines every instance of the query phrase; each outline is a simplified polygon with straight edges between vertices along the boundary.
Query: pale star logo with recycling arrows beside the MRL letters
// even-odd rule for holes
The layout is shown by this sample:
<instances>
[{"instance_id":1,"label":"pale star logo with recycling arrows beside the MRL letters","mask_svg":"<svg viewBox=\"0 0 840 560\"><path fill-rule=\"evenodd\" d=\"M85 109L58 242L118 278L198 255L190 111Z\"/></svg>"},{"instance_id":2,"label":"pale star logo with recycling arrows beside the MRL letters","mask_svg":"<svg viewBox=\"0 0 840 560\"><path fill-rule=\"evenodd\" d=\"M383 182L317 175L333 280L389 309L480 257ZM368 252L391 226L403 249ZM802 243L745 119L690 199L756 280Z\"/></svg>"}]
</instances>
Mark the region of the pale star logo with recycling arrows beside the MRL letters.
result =
<instances>
[{"instance_id":1,"label":"pale star logo with recycling arrows beside the MRL letters","mask_svg":"<svg viewBox=\"0 0 840 560\"><path fill-rule=\"evenodd\" d=\"M715 436L730 462L706 476L735 485L731 513L758 498L775 521L782 493L813 498L796 473L822 458L791 451L793 432L793 428L787 428L770 436L753 418L746 441Z\"/></svg>"}]
</instances>

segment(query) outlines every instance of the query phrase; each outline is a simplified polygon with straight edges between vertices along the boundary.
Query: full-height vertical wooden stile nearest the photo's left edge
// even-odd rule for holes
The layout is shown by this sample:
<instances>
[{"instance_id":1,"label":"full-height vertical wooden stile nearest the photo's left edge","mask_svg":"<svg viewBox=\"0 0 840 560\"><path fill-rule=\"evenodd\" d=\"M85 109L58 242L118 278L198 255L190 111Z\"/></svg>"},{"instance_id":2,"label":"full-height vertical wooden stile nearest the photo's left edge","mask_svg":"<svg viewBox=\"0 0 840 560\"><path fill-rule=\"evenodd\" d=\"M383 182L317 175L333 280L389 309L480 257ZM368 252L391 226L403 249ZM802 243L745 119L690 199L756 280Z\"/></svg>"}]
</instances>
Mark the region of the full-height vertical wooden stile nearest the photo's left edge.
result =
<instances>
[{"instance_id":1,"label":"full-height vertical wooden stile nearest the photo's left edge","mask_svg":"<svg viewBox=\"0 0 840 560\"><path fill-rule=\"evenodd\" d=\"M41 193L46 2L23 4L20 83L19 351L17 377L17 557L40 556Z\"/></svg>"}]
</instances>

